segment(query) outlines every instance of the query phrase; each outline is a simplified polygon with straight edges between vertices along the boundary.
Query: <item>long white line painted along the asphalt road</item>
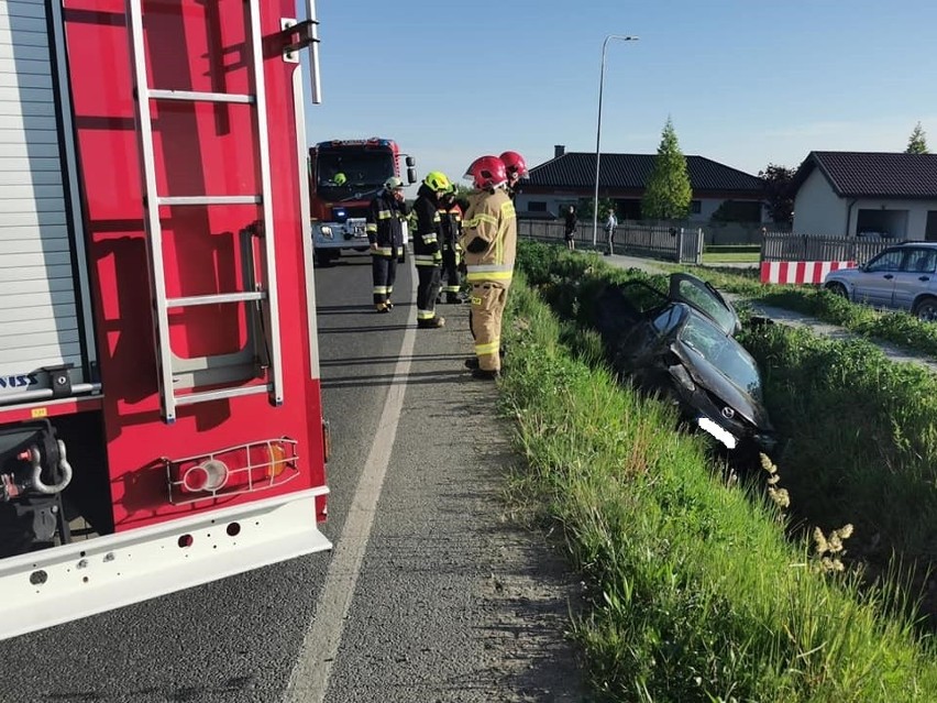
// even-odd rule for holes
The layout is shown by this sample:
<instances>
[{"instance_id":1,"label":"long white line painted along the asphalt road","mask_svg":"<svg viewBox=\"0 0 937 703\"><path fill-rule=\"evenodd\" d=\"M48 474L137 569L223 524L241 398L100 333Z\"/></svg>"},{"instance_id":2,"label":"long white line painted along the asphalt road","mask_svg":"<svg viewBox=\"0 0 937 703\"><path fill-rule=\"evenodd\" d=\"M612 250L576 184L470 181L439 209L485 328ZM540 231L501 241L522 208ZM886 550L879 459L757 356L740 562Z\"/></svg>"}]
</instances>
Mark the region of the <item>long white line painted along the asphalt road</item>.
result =
<instances>
[{"instance_id":1,"label":"long white line painted along the asphalt road","mask_svg":"<svg viewBox=\"0 0 937 703\"><path fill-rule=\"evenodd\" d=\"M416 275L410 295L416 300ZM296 666L289 677L284 703L321 703L326 700L332 666L342 641L345 618L351 606L355 584L361 573L364 551L371 537L377 501L390 463L390 451L397 436L397 424L404 407L407 384L416 342L416 306L411 307L407 331L400 347L400 356L394 367L394 377L377 424L371 453L361 472L354 498L345 518L344 529L334 540L335 548L326 574L326 583L316 604L316 613L306 633Z\"/></svg>"}]
</instances>

